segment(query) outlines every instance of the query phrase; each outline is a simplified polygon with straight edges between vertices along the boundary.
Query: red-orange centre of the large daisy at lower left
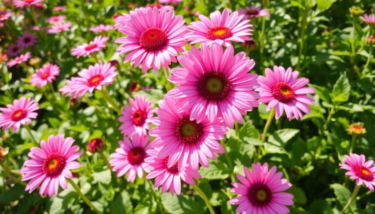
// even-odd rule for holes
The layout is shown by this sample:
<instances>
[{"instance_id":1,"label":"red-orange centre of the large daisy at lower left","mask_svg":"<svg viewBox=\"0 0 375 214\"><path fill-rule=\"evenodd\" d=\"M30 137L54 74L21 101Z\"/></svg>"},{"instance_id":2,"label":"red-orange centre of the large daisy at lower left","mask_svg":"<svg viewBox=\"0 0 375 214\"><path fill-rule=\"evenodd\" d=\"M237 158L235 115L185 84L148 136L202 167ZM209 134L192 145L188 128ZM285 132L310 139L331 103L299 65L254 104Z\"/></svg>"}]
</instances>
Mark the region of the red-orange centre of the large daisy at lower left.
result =
<instances>
[{"instance_id":1,"label":"red-orange centre of the large daisy at lower left","mask_svg":"<svg viewBox=\"0 0 375 214\"><path fill-rule=\"evenodd\" d=\"M59 175L64 169L66 159L59 153L52 153L43 162L43 172L49 176Z\"/></svg>"}]
</instances>

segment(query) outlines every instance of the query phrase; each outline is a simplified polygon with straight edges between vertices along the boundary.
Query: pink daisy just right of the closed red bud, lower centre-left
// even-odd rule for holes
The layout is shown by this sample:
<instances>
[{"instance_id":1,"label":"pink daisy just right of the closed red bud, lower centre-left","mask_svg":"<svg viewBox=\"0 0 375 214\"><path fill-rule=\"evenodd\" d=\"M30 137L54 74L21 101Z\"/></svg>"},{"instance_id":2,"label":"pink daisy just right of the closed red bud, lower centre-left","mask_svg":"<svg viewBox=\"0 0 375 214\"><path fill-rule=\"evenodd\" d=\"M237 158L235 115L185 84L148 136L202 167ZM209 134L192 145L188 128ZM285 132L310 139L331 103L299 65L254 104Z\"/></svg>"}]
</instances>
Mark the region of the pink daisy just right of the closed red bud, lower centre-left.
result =
<instances>
[{"instance_id":1,"label":"pink daisy just right of the closed red bud, lower centre-left","mask_svg":"<svg viewBox=\"0 0 375 214\"><path fill-rule=\"evenodd\" d=\"M144 171L150 172L150 167L145 162L145 158L149 157L146 153L150 149L150 145L147 145L149 138L150 136L133 135L131 141L126 137L124 141L119 141L120 148L110 155L112 159L109 161L112 171L118 171L118 177L127 173L126 180L133 182L136 175L142 178Z\"/></svg>"}]
</instances>

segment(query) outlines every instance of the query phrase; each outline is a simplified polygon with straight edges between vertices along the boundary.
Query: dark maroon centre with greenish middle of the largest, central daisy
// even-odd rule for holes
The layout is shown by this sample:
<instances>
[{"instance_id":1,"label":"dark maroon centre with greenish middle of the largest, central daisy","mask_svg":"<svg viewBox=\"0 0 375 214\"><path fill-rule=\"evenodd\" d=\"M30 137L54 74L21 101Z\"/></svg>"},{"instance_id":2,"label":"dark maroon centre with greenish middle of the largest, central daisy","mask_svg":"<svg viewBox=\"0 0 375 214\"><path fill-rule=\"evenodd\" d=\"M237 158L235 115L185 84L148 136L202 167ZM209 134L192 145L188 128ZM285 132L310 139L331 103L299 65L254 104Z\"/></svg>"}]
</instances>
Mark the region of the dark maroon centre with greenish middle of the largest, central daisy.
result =
<instances>
[{"instance_id":1,"label":"dark maroon centre with greenish middle of the largest, central daisy","mask_svg":"<svg viewBox=\"0 0 375 214\"><path fill-rule=\"evenodd\" d=\"M229 79L219 72L207 72L198 80L198 92L208 100L221 101L230 91Z\"/></svg>"}]
</instances>

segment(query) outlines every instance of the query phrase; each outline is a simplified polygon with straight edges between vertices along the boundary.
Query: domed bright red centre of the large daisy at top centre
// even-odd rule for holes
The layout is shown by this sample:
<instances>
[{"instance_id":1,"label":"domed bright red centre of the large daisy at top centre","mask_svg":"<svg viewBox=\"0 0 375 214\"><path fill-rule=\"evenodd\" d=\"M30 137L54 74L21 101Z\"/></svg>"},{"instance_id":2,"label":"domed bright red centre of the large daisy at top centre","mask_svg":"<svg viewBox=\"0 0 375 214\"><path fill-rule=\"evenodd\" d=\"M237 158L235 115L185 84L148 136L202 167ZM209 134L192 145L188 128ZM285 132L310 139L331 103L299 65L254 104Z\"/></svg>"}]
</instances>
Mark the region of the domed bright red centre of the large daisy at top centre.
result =
<instances>
[{"instance_id":1,"label":"domed bright red centre of the large daisy at top centre","mask_svg":"<svg viewBox=\"0 0 375 214\"><path fill-rule=\"evenodd\" d=\"M157 51L166 46L168 36L158 27L152 27L141 34L139 45L146 51Z\"/></svg>"}]
</instances>

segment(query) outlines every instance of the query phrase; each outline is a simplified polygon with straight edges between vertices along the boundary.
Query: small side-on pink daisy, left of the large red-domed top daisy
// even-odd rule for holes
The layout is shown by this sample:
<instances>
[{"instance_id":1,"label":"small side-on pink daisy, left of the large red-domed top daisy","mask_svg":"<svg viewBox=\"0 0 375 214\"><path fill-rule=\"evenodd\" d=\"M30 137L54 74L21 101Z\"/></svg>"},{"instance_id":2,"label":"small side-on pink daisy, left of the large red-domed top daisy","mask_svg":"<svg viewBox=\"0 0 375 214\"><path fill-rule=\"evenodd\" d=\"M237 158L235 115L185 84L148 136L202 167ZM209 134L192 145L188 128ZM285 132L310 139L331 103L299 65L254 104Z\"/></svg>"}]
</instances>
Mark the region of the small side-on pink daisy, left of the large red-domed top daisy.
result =
<instances>
[{"instance_id":1,"label":"small side-on pink daisy, left of the large red-domed top daisy","mask_svg":"<svg viewBox=\"0 0 375 214\"><path fill-rule=\"evenodd\" d=\"M77 56L77 58L80 58L83 55L90 55L91 53L101 51L106 47L105 42L108 41L108 39L109 37L98 36L88 44L83 43L82 45L78 45L76 48L72 49L72 56Z\"/></svg>"}]
</instances>

